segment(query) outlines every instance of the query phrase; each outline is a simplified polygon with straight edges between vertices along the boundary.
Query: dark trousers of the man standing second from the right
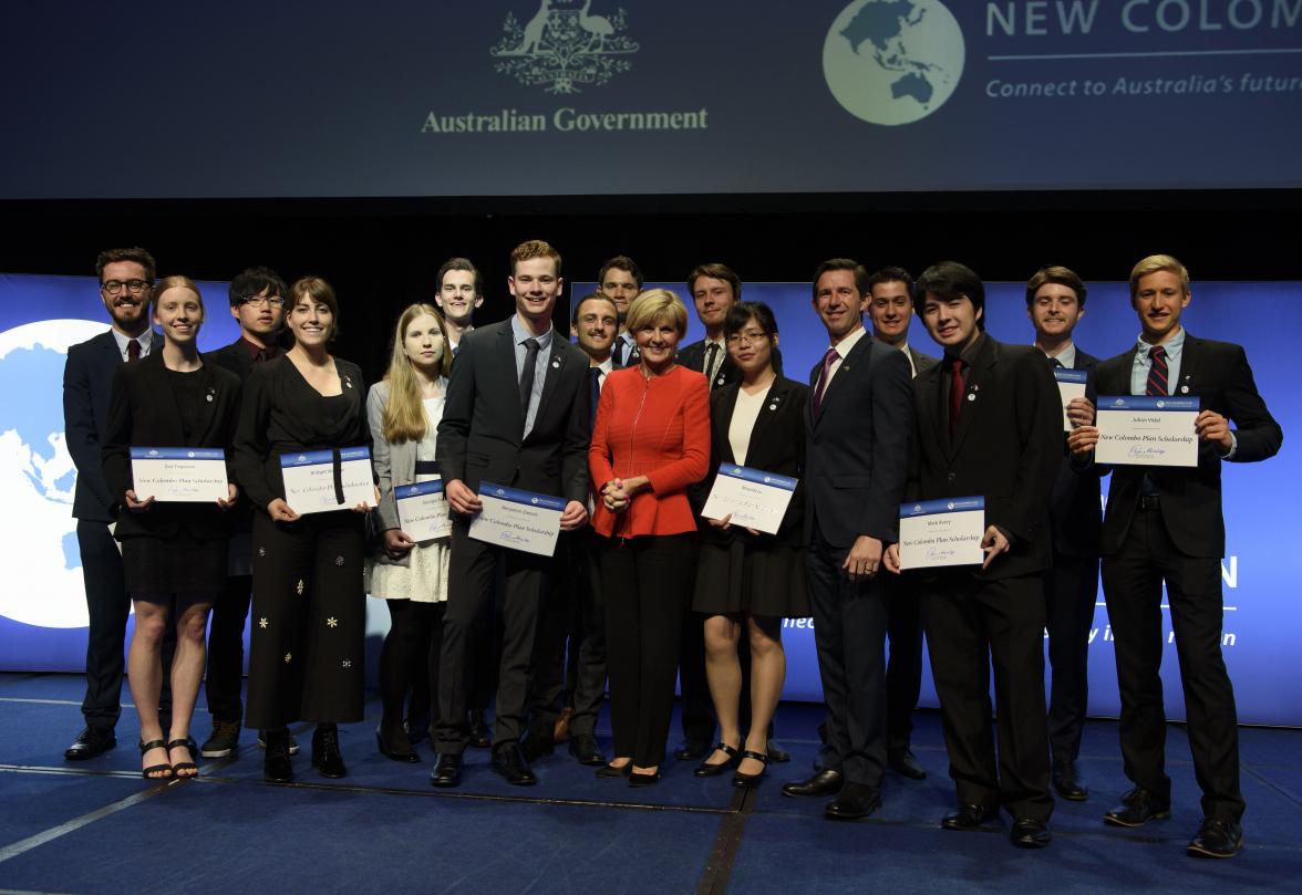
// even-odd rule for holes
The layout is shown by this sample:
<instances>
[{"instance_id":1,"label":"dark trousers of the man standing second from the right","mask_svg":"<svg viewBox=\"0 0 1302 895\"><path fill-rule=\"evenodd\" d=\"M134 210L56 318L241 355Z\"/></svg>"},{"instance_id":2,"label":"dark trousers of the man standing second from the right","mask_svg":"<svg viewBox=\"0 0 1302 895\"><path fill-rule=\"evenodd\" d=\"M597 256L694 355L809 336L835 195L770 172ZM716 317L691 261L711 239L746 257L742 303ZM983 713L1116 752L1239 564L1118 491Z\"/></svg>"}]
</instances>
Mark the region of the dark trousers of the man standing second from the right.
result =
<instances>
[{"instance_id":1,"label":"dark trousers of the man standing second from the right","mask_svg":"<svg viewBox=\"0 0 1302 895\"><path fill-rule=\"evenodd\" d=\"M1044 615L1049 634L1049 748L1056 761L1075 761L1081 753L1090 706L1090 628L1099 598L1098 557L1053 553L1044 572Z\"/></svg>"}]
</instances>

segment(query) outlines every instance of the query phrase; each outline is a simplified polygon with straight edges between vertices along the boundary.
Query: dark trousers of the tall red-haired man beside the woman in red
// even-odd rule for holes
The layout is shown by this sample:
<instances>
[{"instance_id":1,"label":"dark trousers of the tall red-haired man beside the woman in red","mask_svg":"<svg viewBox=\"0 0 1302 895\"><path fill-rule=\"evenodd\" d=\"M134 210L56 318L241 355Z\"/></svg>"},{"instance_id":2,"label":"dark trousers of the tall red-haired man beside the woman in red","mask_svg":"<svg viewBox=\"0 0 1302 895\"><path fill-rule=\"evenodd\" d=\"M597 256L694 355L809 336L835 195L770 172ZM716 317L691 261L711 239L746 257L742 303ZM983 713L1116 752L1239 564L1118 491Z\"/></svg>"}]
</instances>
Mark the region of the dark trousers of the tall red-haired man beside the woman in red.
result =
<instances>
[{"instance_id":1,"label":"dark trousers of the tall red-haired man beside the woman in red","mask_svg":"<svg viewBox=\"0 0 1302 895\"><path fill-rule=\"evenodd\" d=\"M466 748L466 710L473 708L470 674L483 649L484 619L491 618L501 575L501 662L497 674L497 713L493 748L514 743L525 732L529 669L538 637L538 618L551 588L552 558L497 548L469 536L470 523L452 522L448 565L448 608L443 615L443 654L439 661L439 723L435 748L461 755ZM488 628L491 630L491 627Z\"/></svg>"}]
</instances>

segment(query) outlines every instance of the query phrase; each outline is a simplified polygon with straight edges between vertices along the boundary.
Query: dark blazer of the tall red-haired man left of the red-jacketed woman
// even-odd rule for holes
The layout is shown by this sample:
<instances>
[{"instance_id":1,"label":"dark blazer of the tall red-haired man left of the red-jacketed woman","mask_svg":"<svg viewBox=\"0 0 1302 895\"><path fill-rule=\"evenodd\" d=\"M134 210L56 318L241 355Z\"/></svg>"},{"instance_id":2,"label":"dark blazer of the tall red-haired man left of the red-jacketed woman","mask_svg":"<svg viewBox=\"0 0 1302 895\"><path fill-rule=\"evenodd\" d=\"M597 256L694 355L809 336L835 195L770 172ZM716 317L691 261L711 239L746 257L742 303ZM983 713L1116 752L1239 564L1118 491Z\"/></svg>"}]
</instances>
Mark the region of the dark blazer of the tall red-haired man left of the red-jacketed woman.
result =
<instances>
[{"instance_id":1,"label":"dark blazer of the tall red-haired man left of the red-jacketed woman","mask_svg":"<svg viewBox=\"0 0 1302 895\"><path fill-rule=\"evenodd\" d=\"M510 319L466 333L439 423L444 481L480 481L587 501L589 358L552 329L547 379L527 438Z\"/></svg>"}]
</instances>

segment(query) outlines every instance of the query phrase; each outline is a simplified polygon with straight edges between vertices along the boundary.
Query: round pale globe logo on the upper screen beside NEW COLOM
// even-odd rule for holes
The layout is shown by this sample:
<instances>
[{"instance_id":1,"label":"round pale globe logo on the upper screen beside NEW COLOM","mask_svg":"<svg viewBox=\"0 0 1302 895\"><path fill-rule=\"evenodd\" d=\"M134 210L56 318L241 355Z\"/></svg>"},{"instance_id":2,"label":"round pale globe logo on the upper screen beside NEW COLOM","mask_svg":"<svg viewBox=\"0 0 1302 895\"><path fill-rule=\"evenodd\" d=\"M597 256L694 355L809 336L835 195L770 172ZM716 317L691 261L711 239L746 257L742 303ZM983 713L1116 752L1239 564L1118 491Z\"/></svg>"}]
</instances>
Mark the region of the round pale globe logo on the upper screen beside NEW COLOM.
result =
<instances>
[{"instance_id":1,"label":"round pale globe logo on the upper screen beside NEW COLOM","mask_svg":"<svg viewBox=\"0 0 1302 895\"><path fill-rule=\"evenodd\" d=\"M855 0L827 33L823 77L854 117L907 125L954 92L963 52L963 33L940 0Z\"/></svg>"}]
</instances>

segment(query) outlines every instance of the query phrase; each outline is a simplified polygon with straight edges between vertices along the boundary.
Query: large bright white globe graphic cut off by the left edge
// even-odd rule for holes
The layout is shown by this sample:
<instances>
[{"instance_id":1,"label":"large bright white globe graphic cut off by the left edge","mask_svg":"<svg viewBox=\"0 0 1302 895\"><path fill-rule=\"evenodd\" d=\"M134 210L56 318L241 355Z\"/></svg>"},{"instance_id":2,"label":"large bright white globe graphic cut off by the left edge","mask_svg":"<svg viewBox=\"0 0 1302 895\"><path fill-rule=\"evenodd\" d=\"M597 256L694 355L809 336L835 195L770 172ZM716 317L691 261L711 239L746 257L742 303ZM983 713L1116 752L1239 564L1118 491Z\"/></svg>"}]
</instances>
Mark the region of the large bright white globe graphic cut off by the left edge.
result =
<instances>
[{"instance_id":1,"label":"large bright white globe graphic cut off by the left edge","mask_svg":"<svg viewBox=\"0 0 1302 895\"><path fill-rule=\"evenodd\" d=\"M0 542L5 587L0 615L51 628L86 627L86 591L64 441L68 346L103 333L103 323L42 320L0 333Z\"/></svg>"}]
</instances>

